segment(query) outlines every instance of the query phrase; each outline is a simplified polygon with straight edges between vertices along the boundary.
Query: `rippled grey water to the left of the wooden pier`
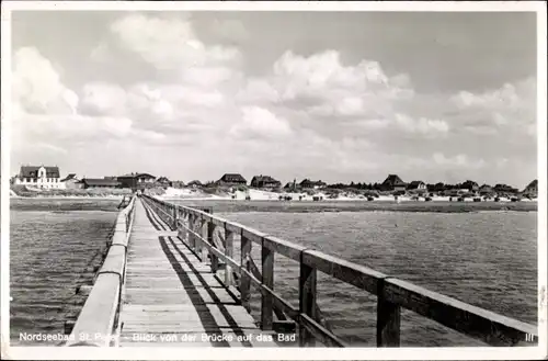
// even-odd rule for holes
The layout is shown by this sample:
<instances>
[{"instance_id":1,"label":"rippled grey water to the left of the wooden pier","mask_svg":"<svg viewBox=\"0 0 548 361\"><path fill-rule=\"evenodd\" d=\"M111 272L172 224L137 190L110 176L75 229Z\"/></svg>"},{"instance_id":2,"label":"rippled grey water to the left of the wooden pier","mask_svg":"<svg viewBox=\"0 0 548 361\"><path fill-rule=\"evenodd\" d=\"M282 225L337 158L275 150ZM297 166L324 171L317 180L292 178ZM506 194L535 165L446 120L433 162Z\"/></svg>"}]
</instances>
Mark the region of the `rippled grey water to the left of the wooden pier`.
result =
<instances>
[{"instance_id":1,"label":"rippled grey water to the left of the wooden pier","mask_svg":"<svg viewBox=\"0 0 548 361\"><path fill-rule=\"evenodd\" d=\"M10 328L61 332L76 286L92 281L119 201L16 200L11 205Z\"/></svg>"}]
</instances>

